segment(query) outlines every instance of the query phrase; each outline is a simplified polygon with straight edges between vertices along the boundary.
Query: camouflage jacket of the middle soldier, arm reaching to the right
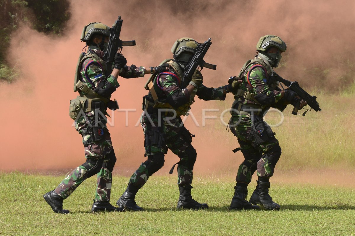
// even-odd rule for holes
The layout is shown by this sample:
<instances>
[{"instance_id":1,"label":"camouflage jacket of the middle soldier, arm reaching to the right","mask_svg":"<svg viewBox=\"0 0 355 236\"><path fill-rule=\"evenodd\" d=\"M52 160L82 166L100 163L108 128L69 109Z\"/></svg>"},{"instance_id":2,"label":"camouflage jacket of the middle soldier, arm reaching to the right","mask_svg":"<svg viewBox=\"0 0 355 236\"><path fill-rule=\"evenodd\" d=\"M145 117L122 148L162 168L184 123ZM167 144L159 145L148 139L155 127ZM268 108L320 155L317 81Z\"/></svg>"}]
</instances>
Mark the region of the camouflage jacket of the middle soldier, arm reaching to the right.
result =
<instances>
[{"instance_id":1,"label":"camouflage jacket of the middle soldier, arm reaching to the right","mask_svg":"<svg viewBox=\"0 0 355 236\"><path fill-rule=\"evenodd\" d=\"M177 73L170 69L171 74ZM208 88L203 84L195 88L192 94L187 88L182 87L182 81L178 76L161 73L156 75L153 80L155 91L157 92L159 103L169 103L173 108L179 108L184 105L191 105L194 102L195 95L203 100L225 100L227 85L218 88ZM148 93L148 100L153 101L151 92Z\"/></svg>"}]
</instances>

